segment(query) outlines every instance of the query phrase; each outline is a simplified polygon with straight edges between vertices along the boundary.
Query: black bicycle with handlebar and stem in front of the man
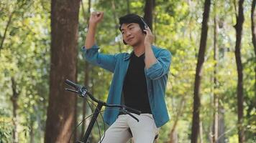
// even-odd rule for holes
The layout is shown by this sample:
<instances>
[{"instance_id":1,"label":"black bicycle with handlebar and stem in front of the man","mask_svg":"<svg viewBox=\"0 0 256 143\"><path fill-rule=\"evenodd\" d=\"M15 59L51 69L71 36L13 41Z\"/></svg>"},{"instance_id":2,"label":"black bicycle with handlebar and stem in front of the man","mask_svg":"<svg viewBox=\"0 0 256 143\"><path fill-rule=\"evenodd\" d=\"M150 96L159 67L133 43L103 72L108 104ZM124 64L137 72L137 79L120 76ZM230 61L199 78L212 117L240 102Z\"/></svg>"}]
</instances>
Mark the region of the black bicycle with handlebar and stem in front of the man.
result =
<instances>
[{"instance_id":1,"label":"black bicycle with handlebar and stem in front of the man","mask_svg":"<svg viewBox=\"0 0 256 143\"><path fill-rule=\"evenodd\" d=\"M93 100L93 102L97 103L96 109L93 112L93 117L91 118L91 121L86 129L86 133L83 136L83 141L76 141L76 143L87 143L88 137L91 134L93 125L95 124L96 119L99 116L99 113L101 112L102 107L119 108L119 112L122 112L124 114L129 114L129 116L131 116L132 118L136 119L137 122L139 122L139 119L137 119L137 117L134 117L134 115L131 114L131 112L132 112L134 114L140 115L141 112L138 111L137 109L132 109L125 105L106 104L106 102L103 102L99 99L94 98L93 95L90 92L88 92L88 89L86 89L86 87L83 87L82 85L79 85L79 84L75 84L68 79L65 80L65 84L68 84L69 86L76 89L76 90L73 90L73 89L65 88L65 90L68 90L69 92L75 92L76 94L78 94L80 97L83 97L83 98L86 97L86 94L87 94L88 97L90 97L90 99ZM129 112L128 110L131 112ZM71 134L71 136L72 136L72 134Z\"/></svg>"}]
</instances>

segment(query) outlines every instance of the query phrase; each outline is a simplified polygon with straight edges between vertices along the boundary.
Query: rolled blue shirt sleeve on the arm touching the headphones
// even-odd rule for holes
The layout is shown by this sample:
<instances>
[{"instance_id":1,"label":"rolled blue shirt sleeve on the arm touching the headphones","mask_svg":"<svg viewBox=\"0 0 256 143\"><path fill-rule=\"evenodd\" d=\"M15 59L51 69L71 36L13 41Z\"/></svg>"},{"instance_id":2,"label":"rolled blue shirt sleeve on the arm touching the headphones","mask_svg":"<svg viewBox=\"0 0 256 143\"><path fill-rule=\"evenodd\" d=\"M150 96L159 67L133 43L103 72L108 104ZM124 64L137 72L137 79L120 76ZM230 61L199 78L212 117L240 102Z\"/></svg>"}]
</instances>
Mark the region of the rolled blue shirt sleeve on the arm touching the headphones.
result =
<instances>
[{"instance_id":1,"label":"rolled blue shirt sleeve on the arm touching the headphones","mask_svg":"<svg viewBox=\"0 0 256 143\"><path fill-rule=\"evenodd\" d=\"M163 50L157 57L157 62L152 64L150 68L146 69L147 77L150 79L159 79L165 74L168 74L171 63L170 51Z\"/></svg>"}]
</instances>

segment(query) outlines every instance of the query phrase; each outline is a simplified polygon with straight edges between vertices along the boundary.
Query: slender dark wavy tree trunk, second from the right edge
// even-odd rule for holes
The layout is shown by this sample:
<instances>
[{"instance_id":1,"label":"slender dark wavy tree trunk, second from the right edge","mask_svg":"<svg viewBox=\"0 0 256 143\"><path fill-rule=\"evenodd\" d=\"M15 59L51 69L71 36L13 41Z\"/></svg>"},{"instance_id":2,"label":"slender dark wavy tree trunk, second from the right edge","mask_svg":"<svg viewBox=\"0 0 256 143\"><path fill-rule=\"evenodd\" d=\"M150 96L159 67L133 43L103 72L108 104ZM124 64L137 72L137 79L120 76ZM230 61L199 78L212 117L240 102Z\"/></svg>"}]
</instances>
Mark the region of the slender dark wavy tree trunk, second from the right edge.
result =
<instances>
[{"instance_id":1,"label":"slender dark wavy tree trunk, second from the right edge","mask_svg":"<svg viewBox=\"0 0 256 143\"><path fill-rule=\"evenodd\" d=\"M244 127L243 127L243 75L242 75L242 61L241 61L241 41L242 41L242 24L244 23L244 14L243 14L243 3L244 0L239 0L238 7L238 16L237 16L237 24L234 26L236 29L236 46L234 54L236 56L237 62L237 111L238 111L238 138L239 143L244 142Z\"/></svg>"}]
</instances>

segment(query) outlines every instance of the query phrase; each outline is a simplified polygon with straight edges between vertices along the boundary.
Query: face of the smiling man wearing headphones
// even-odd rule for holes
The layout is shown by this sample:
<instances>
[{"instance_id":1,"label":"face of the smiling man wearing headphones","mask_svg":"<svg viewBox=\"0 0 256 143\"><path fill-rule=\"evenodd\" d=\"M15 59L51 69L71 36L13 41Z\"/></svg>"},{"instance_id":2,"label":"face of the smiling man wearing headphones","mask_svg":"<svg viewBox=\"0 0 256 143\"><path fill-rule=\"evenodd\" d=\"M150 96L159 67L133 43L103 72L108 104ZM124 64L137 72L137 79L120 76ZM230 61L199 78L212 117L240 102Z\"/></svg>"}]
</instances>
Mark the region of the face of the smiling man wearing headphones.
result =
<instances>
[{"instance_id":1,"label":"face of the smiling man wearing headphones","mask_svg":"<svg viewBox=\"0 0 256 143\"><path fill-rule=\"evenodd\" d=\"M121 32L124 41L130 46L140 45L145 39L145 34L142 33L140 25L136 23L122 24Z\"/></svg>"}]
</instances>

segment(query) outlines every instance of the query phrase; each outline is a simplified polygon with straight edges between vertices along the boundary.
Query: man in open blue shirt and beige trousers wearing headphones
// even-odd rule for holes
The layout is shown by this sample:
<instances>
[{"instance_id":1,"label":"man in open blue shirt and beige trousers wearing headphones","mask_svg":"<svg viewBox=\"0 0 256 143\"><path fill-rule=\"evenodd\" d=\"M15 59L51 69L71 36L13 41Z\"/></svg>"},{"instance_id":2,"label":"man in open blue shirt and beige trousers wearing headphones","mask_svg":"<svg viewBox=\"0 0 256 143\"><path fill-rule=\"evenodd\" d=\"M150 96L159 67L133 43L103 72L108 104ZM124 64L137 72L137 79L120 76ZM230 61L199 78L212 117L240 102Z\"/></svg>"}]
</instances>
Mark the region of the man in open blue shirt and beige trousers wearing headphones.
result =
<instances>
[{"instance_id":1,"label":"man in open blue shirt and beige trousers wearing headphones","mask_svg":"<svg viewBox=\"0 0 256 143\"><path fill-rule=\"evenodd\" d=\"M164 97L171 54L152 45L154 36L150 28L136 14L119 18L124 44L132 46L132 53L99 53L95 34L103 16L103 12L91 14L83 56L91 64L114 73L108 104L125 104L142 114L134 114L140 120L137 122L127 114L107 108L104 120L111 126L101 142L124 143L131 137L135 143L154 142L159 127L169 120Z\"/></svg>"}]
</instances>

